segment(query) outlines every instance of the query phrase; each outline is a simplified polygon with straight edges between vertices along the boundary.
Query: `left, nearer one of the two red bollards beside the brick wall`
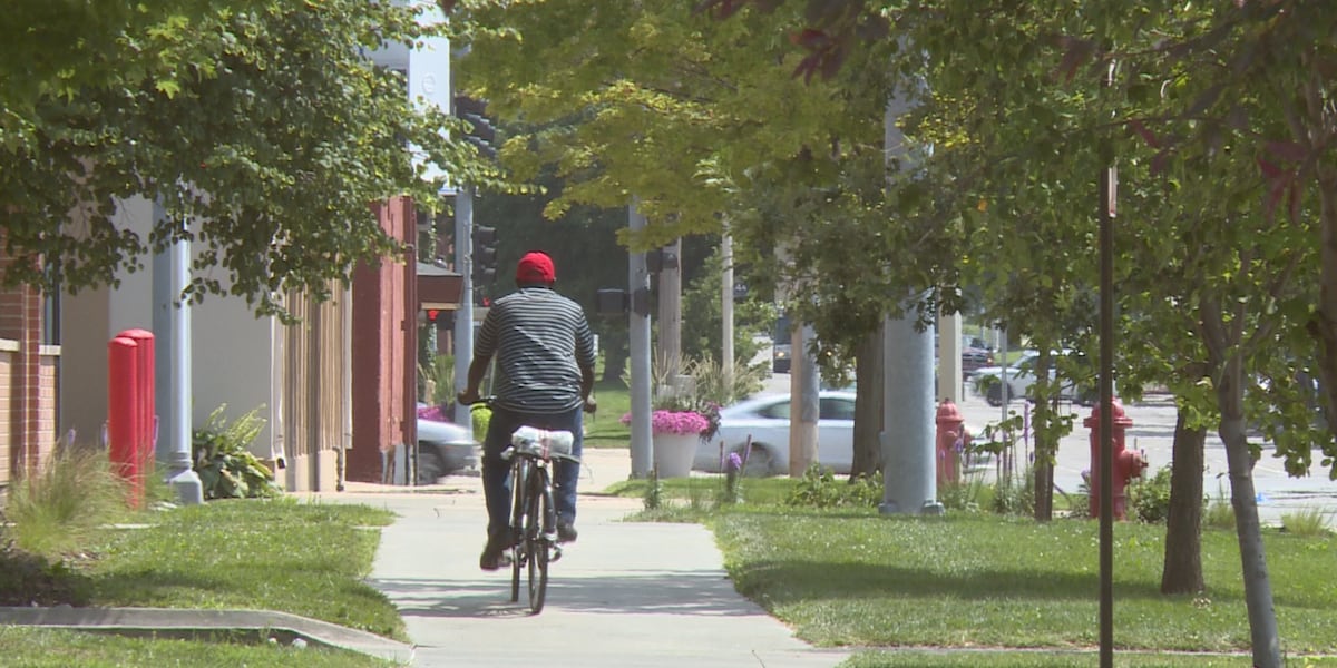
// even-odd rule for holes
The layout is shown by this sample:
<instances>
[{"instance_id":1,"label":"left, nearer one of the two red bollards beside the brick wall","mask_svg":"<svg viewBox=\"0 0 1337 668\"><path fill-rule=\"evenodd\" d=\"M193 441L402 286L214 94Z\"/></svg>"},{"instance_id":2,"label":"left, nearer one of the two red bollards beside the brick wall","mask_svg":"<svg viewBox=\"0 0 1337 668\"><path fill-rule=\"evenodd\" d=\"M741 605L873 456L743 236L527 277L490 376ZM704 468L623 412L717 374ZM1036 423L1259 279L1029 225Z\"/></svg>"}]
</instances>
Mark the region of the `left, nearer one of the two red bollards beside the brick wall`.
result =
<instances>
[{"instance_id":1,"label":"left, nearer one of the two red bollards beside the brick wall","mask_svg":"<svg viewBox=\"0 0 1337 668\"><path fill-rule=\"evenodd\" d=\"M139 343L116 337L107 343L107 438L115 472L130 484L130 505L139 508L144 481L139 469Z\"/></svg>"}]
</instances>

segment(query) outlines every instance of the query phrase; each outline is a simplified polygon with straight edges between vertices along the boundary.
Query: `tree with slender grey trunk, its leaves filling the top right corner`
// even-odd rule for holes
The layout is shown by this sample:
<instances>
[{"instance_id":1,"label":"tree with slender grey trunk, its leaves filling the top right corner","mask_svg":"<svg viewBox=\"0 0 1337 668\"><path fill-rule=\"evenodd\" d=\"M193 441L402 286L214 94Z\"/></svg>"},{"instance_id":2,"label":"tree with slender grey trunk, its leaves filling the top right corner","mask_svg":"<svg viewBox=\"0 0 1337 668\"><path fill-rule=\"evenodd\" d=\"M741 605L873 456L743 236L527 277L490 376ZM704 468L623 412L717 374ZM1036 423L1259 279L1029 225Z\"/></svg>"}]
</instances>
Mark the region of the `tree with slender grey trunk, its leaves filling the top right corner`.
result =
<instances>
[{"instance_id":1,"label":"tree with slender grey trunk, its leaves filling the top right corner","mask_svg":"<svg viewBox=\"0 0 1337 668\"><path fill-rule=\"evenodd\" d=\"M774 8L782 3L703 3L722 13L749 4ZM967 136L992 132L1028 142L1028 146L1004 143L1003 147L1011 148L1005 152L996 148L984 152L991 162L969 160L976 167L987 167L981 183L984 186L1004 186L1008 180L999 179L999 175L1005 172L1009 159L1015 162L1019 155L1038 155L1038 146L1052 148L1055 139L1072 143L1074 134L1063 128L1083 126L1087 128L1084 135L1092 139L1086 146L1092 150L1054 156L1058 158L1052 160L1054 164L1076 174L1095 174L1090 167L1072 170L1072 158L1095 158L1092 167L1111 164L1118 142L1110 131L1123 127L1139 135L1152 148L1150 155L1142 152L1132 158L1140 160L1143 168L1150 166L1154 172L1165 172L1167 163L1177 162L1190 164L1194 174L1207 176L1190 184L1198 186L1194 190L1182 188L1185 183L1175 180L1167 180L1166 186L1183 199L1182 208L1175 206L1171 211L1190 214L1186 218L1194 223L1189 230L1213 230L1207 234L1214 234L1215 238L1209 243L1223 248L1223 255L1203 259L1191 244L1166 247L1162 243L1155 253L1126 259L1140 267L1155 267L1159 266L1157 261L1163 259L1169 250L1197 263L1183 265L1185 271L1179 274L1191 281L1183 285L1187 294L1169 299L1175 299L1173 307L1181 313L1189 310L1197 318L1197 323L1187 330L1195 330L1194 334L1206 349L1203 379L1213 387L1214 411L1219 414L1218 432L1230 452L1233 501L1239 522L1241 556L1249 592L1246 597L1254 633L1254 660L1258 665L1277 665L1280 649L1275 620L1270 611L1270 588L1249 474L1253 453L1242 428L1246 420L1258 413L1259 406L1270 403L1284 407L1282 403L1273 403L1275 397L1266 394L1271 387L1294 385L1289 378L1305 365L1297 365L1293 355L1305 346L1297 345L1294 337L1281 337L1277 333L1278 329L1284 331L1288 327L1293 331L1296 326L1286 323L1305 322L1305 313L1316 314L1308 322L1309 331L1324 349L1325 381L1337 379L1337 366L1330 362L1334 358L1332 351L1337 350L1333 346L1337 341L1333 322L1337 321L1329 317L1337 313L1337 287L1330 287L1337 286L1337 279L1330 278L1337 277L1337 262L1324 259L1317 282L1322 286L1318 299L1310 302L1314 307L1305 309L1304 297L1297 298L1304 290L1297 291L1292 275L1304 274L1304 250L1313 247L1312 238L1305 239L1304 234L1297 238L1293 230L1258 223L1282 203L1292 219L1300 222L1306 210L1304 184L1313 182L1318 191L1320 220L1324 222L1322 238L1337 236L1337 232L1329 231L1337 227L1329 226L1328 216L1324 215L1328 211L1337 214L1337 206L1328 204L1337 200L1330 196L1337 191L1329 188L1337 186L1337 180L1329 178L1337 170L1329 170L1330 160L1324 159L1330 151L1329 139L1337 127L1325 92L1332 88L1334 69L1329 36L1337 19L1312 3L1298 1L1235 3L1234 7L1223 5L1219 9L1170 3L1143 4L1131 16L1124 5L1115 4L1083 7L1080 13L1070 12L1072 8L1063 4L1029 7L1029 12L1009 7L996 8L989 16L980 16L977 7L965 4L939 4L932 12L900 13L882 12L881 7L861 1L809 0L805 4L812 24L798 33L798 41L810 55L804 60L801 72L820 72L829 77L840 71L841 61L852 51L850 43L869 36L881 40L885 31L877 28L894 25L909 31L916 47L929 53L929 61L944 63L929 81L935 94L944 90L969 91L968 95L952 98L959 106L956 110L967 112L972 111L972 103L989 103L983 112L967 114L965 124L952 123L951 116L955 114L948 114L949 127L963 128ZM933 29L915 29L923 25L932 25ZM1048 53L1047 45L1054 48ZM1046 69L1058 76L1052 81L1027 77L1028 73L1040 71L1034 63L1046 57L1050 61ZM965 67L953 67L953 63ZM979 63L988 63L991 67L981 68ZM1019 67L1027 63L1032 65ZM1104 79L1114 64L1118 64L1120 73L1115 79L1115 90L1095 91L1096 81ZM1005 72L1005 76L999 76L1000 72ZM996 98L1003 95L1007 99L997 104ZM1082 104L1083 99L1104 102ZM1052 107L1062 100L1076 102L1078 106L1072 107L1076 114L1056 116ZM1114 123L1100 120L1102 118L1114 119ZM1249 162L1257 162L1258 168L1253 172L1239 168L1241 163ZM1040 164L1050 163L1046 160ZM1183 175L1181 171L1173 174L1177 178ZM960 184L960 174L953 178L953 183ZM1047 176L1027 183L1052 187L1059 182ZM976 188L971 188L969 183L967 186L963 188L967 192L988 198L981 199L981 203L992 206L992 199L997 196L996 192L981 192L984 188L979 188L980 184L975 184ZM1222 194L1226 196L1222 198ZM1241 206L1241 199L1249 196L1254 198L1250 206ZM1222 203L1222 199L1229 202ZM1163 203L1165 199L1159 202ZM1258 202L1266 202L1266 206L1259 207ZM968 208L963 207L961 211L969 215ZM1229 240L1234 243L1222 244L1222 228L1247 232L1230 234ZM1317 246L1328 251L1330 244ZM1294 253L1288 253L1290 248ZM1337 261L1337 251L1332 253L1332 259ZM1222 273L1225 267L1233 270ZM1161 295L1163 290L1158 293ZM1259 309L1269 318L1261 319ZM1183 327L1173 329L1177 319L1151 318L1150 322L1161 333L1185 331ZM1278 350L1285 353L1278 355ZM1289 362L1286 355L1292 355ZM1191 369L1193 363L1202 361L1201 357L1178 359L1178 365L1167 366ZM1285 382L1270 382L1269 390L1259 393L1246 381L1254 374ZM1330 397L1337 395L1332 382L1325 386ZM1191 397L1193 393L1182 395ZM1337 403L1332 398L1328 403L1332 414ZM1201 407L1193 401L1181 405L1181 410ZM1190 430L1185 430L1186 442L1190 440L1187 432ZM1304 445L1313 442L1312 429L1304 429L1298 434L1310 436L1275 434L1286 441L1278 444L1278 453L1288 457L1288 465L1293 470L1305 468L1309 456ZM1293 448L1296 444L1289 442L1292 437L1302 441L1300 448ZM1330 437L1322 442L1329 453L1326 464L1332 466L1332 450L1328 445ZM1191 444L1187 446L1191 448Z\"/></svg>"}]
</instances>

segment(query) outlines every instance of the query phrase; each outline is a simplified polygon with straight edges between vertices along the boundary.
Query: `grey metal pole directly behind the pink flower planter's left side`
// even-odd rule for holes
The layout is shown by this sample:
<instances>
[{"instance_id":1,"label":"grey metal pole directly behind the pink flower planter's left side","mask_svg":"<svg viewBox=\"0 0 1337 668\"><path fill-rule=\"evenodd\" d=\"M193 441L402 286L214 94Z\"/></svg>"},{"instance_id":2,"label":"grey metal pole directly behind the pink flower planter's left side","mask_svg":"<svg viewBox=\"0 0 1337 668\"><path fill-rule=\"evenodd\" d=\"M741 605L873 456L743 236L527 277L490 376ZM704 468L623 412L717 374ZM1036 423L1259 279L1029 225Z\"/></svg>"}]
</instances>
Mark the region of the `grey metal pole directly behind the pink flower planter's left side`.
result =
<instances>
[{"instance_id":1,"label":"grey metal pole directly behind the pink flower planter's left side","mask_svg":"<svg viewBox=\"0 0 1337 668\"><path fill-rule=\"evenodd\" d=\"M627 207L627 227L632 232L646 228L646 216L636 210L636 198ZM644 478L650 476L654 462L650 432L650 271L644 253L630 254L627 287L631 293L627 327L631 357L631 477Z\"/></svg>"}]
</instances>

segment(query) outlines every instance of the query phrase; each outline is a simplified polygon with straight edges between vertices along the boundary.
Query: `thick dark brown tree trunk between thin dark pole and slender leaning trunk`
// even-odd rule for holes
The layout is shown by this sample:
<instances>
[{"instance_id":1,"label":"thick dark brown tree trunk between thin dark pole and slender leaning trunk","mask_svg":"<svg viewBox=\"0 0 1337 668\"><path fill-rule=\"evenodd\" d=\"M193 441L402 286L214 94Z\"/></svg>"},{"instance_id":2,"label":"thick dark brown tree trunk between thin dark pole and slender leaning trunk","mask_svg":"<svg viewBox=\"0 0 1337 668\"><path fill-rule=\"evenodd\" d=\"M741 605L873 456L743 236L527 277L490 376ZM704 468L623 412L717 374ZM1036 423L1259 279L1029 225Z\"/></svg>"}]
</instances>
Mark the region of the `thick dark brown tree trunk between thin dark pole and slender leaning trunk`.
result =
<instances>
[{"instance_id":1,"label":"thick dark brown tree trunk between thin dark pole and slender leaning trunk","mask_svg":"<svg viewBox=\"0 0 1337 668\"><path fill-rule=\"evenodd\" d=\"M1202 581L1202 446L1206 429L1186 426L1183 411L1175 420L1170 468L1170 514L1166 518L1166 561L1161 593L1198 593Z\"/></svg>"}]
</instances>

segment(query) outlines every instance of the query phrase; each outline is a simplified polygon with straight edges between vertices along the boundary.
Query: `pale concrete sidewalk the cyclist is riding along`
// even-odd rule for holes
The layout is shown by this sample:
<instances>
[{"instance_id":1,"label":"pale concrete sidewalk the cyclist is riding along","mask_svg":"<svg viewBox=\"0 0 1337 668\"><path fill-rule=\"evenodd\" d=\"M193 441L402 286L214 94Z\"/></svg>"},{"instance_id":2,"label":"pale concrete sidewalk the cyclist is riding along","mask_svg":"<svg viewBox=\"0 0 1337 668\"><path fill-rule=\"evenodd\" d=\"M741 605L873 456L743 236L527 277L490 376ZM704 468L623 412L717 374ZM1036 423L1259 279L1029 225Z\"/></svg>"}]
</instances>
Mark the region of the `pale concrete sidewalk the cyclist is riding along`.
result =
<instances>
[{"instance_id":1,"label":"pale concrete sidewalk the cyclist is riding along","mask_svg":"<svg viewBox=\"0 0 1337 668\"><path fill-rule=\"evenodd\" d=\"M705 528L627 522L639 500L588 496L627 477L626 450L587 450L584 469L580 538L552 564L537 616L524 591L511 603L509 569L479 570L479 478L414 493L352 485L321 498L398 514L382 530L370 584L400 609L413 665L829 668L848 656L813 649L739 596Z\"/></svg>"}]
</instances>

